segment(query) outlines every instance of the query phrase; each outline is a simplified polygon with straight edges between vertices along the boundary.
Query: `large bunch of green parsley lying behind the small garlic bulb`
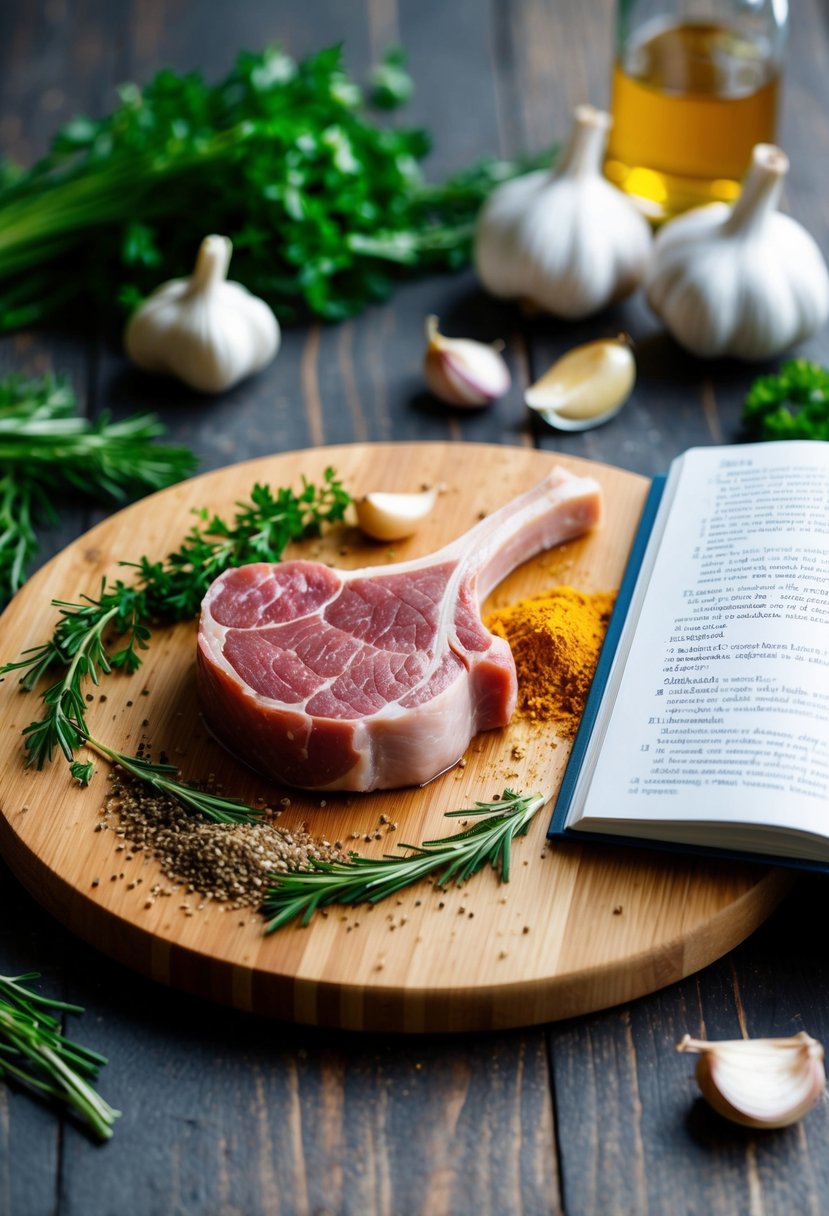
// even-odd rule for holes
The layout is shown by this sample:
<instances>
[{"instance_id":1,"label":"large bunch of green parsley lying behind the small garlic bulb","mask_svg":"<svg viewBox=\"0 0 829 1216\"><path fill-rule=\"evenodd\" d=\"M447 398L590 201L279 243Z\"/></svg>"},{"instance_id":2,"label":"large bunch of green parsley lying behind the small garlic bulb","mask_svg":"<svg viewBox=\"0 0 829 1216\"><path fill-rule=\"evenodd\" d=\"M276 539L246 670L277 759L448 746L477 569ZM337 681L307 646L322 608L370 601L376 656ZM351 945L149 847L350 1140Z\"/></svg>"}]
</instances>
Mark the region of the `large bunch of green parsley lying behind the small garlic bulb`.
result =
<instances>
[{"instance_id":1,"label":"large bunch of green parsley lying behind the small garlic bulb","mask_svg":"<svg viewBox=\"0 0 829 1216\"><path fill-rule=\"evenodd\" d=\"M410 92L396 52L374 98ZM335 321L402 269L462 265L480 203L519 168L481 163L427 186L429 137L367 117L339 47L300 63L275 46L242 52L218 84L163 71L119 96L108 117L63 126L33 168L0 165L0 332L81 299L134 305L188 274L209 232L232 240L233 277L282 321Z\"/></svg>"}]
</instances>

